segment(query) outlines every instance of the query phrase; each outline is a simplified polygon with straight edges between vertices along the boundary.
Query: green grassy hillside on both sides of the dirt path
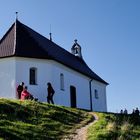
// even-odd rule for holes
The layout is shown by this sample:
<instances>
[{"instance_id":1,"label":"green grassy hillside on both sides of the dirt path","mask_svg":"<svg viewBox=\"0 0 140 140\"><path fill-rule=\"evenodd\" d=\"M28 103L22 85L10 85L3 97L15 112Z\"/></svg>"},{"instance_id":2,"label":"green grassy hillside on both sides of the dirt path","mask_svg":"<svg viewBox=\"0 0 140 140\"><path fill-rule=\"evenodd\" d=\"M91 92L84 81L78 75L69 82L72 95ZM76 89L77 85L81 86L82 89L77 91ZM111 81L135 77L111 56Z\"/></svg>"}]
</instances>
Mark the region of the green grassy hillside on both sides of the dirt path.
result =
<instances>
[{"instance_id":1,"label":"green grassy hillside on both sides of the dirt path","mask_svg":"<svg viewBox=\"0 0 140 140\"><path fill-rule=\"evenodd\" d=\"M88 140L140 140L140 116L96 113ZM35 101L0 99L0 140L60 140L93 119L88 112Z\"/></svg>"}]
</instances>

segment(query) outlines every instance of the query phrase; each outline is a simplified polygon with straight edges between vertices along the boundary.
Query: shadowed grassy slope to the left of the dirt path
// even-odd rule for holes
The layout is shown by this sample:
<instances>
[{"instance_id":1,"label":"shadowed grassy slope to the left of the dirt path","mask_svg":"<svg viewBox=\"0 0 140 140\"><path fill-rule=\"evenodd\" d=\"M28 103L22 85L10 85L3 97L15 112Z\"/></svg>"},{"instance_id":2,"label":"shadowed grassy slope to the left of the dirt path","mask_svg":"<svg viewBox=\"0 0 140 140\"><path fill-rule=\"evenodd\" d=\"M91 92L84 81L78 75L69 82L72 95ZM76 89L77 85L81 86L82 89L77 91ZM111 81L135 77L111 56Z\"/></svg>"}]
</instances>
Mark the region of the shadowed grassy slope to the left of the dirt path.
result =
<instances>
[{"instance_id":1,"label":"shadowed grassy slope to the left of the dirt path","mask_svg":"<svg viewBox=\"0 0 140 140\"><path fill-rule=\"evenodd\" d=\"M59 140L91 119L78 109L0 99L0 139L4 140Z\"/></svg>"}]
</instances>

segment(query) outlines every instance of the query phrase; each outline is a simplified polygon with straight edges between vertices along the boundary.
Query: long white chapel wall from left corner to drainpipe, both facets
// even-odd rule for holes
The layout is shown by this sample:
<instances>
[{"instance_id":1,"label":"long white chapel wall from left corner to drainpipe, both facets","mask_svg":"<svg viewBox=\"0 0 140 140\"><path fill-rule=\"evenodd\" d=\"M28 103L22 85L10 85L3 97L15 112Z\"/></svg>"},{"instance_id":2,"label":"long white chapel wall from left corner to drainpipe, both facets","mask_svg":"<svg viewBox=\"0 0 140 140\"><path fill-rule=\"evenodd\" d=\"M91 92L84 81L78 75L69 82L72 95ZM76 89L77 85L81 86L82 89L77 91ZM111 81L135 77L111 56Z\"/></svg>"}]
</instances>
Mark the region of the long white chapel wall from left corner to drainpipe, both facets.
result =
<instances>
[{"instance_id":1,"label":"long white chapel wall from left corner to drainpipe, both facets","mask_svg":"<svg viewBox=\"0 0 140 140\"><path fill-rule=\"evenodd\" d=\"M29 84L29 69L37 68L37 85ZM56 104L70 106L70 86L76 87L77 107L90 109L89 80L86 76L75 72L52 60L16 58L16 84L24 82L28 90L40 101L47 97L47 82L51 82L54 89ZM60 89L60 74L64 75L64 90Z\"/></svg>"}]
</instances>

